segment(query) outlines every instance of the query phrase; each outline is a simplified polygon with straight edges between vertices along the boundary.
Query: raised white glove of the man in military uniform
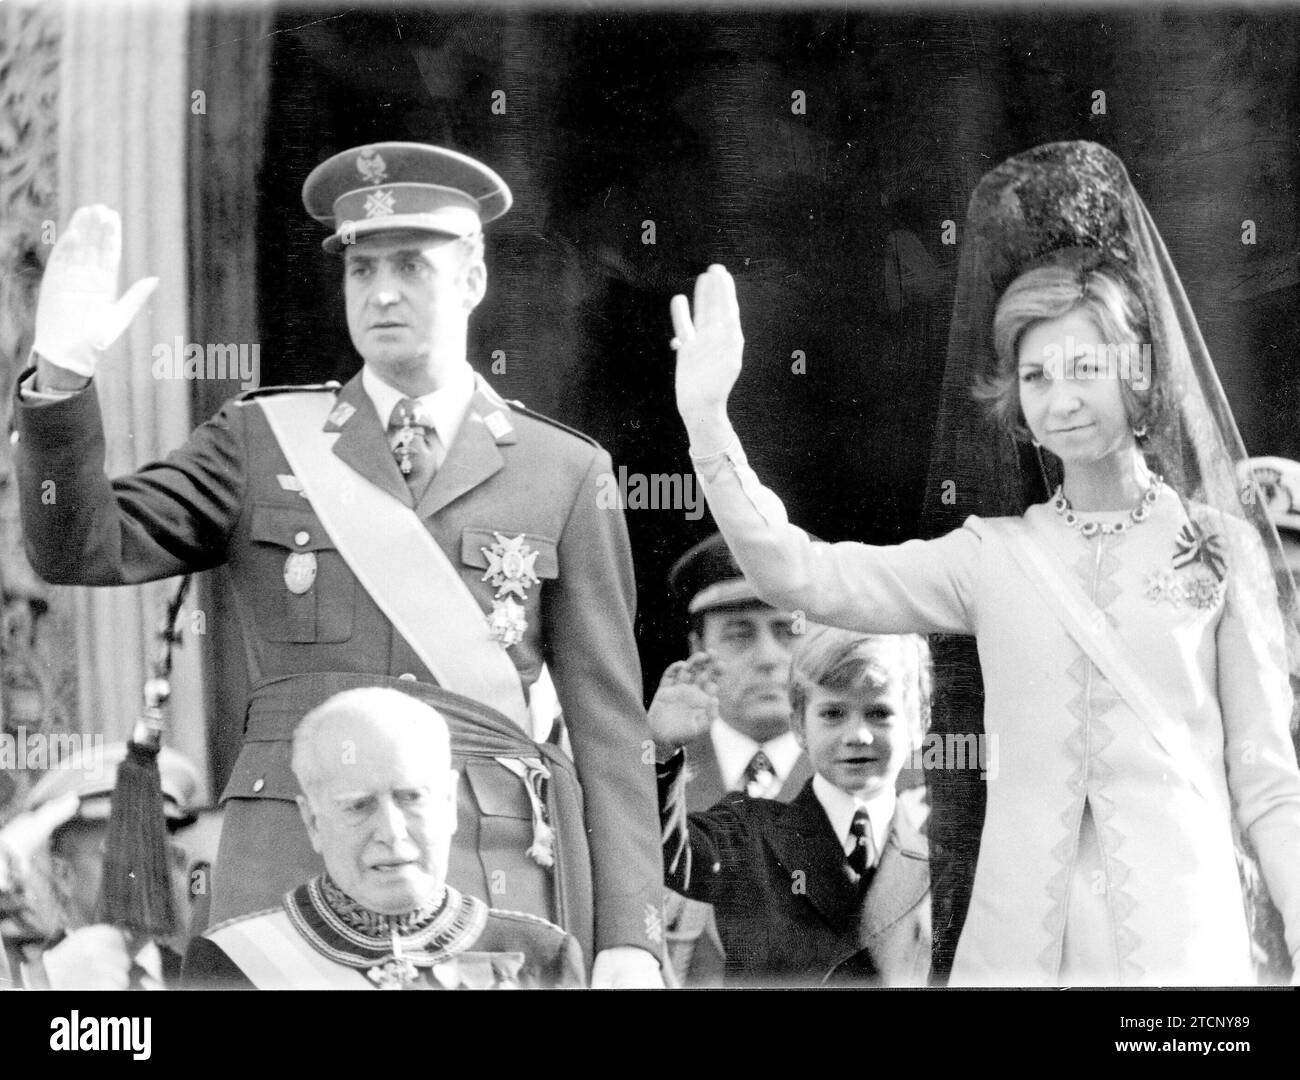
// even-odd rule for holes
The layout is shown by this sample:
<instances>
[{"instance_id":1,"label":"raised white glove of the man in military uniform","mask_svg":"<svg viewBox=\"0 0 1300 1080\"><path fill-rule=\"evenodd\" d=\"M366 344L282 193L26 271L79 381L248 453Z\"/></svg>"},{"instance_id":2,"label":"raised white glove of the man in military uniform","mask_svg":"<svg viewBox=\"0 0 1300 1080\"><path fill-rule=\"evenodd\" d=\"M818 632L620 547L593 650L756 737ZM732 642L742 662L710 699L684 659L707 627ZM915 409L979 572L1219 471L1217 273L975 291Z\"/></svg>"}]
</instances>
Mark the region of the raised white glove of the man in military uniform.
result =
<instances>
[{"instance_id":1,"label":"raised white glove of the man in military uniform","mask_svg":"<svg viewBox=\"0 0 1300 1080\"><path fill-rule=\"evenodd\" d=\"M157 287L140 278L121 299L122 218L108 207L81 207L46 264L36 302L35 352L83 378L95 374L99 351L121 337Z\"/></svg>"}]
</instances>

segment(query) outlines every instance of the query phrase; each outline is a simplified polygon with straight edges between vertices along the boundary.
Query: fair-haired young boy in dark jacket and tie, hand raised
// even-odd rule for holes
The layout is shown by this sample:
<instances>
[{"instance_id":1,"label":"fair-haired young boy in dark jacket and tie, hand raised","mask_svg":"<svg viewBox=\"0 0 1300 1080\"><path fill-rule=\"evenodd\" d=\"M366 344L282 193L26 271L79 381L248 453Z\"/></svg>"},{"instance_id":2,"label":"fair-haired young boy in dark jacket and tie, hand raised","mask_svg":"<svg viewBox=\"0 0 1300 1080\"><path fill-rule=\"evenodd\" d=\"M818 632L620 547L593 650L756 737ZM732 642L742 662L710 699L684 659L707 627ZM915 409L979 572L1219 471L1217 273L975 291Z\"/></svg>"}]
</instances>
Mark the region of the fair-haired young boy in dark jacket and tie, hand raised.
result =
<instances>
[{"instance_id":1,"label":"fair-haired young boy in dark jacket and tie, hand raised","mask_svg":"<svg viewBox=\"0 0 1300 1080\"><path fill-rule=\"evenodd\" d=\"M664 881L714 905L727 985L923 985L926 811L894 785L928 719L924 638L816 626L798 639L790 729L816 775L789 803L732 793L686 814L680 747L708 723L708 685L707 656L671 668L650 729Z\"/></svg>"}]
</instances>

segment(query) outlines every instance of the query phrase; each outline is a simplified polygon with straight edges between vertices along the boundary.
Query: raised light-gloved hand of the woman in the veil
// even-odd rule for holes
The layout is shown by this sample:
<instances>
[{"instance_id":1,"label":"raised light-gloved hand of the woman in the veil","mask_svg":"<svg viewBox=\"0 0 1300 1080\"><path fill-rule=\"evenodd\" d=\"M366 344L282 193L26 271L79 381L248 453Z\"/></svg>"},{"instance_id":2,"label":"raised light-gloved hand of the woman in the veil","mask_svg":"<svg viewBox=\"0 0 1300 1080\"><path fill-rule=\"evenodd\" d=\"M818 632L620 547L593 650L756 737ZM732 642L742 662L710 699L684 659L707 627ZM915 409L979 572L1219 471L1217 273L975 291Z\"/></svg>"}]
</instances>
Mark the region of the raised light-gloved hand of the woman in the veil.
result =
<instances>
[{"instance_id":1,"label":"raised light-gloved hand of the woman in the veil","mask_svg":"<svg viewBox=\"0 0 1300 1080\"><path fill-rule=\"evenodd\" d=\"M670 311L677 350L677 412L698 447L718 433L719 424L727 426L727 398L740 377L745 335L736 282L714 264L696 278L694 312L680 294Z\"/></svg>"}]
</instances>

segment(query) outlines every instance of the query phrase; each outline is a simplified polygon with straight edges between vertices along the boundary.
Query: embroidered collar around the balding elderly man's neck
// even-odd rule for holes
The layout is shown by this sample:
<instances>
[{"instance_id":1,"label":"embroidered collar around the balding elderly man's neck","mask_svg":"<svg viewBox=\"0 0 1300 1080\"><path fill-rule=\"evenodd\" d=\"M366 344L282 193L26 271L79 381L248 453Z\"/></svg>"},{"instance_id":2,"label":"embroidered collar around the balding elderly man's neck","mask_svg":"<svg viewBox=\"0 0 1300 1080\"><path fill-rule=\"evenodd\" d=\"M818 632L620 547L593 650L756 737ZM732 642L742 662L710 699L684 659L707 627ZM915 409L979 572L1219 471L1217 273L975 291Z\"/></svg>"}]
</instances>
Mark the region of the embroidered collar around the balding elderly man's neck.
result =
<instances>
[{"instance_id":1,"label":"embroidered collar around the balding elderly man's neck","mask_svg":"<svg viewBox=\"0 0 1300 1080\"><path fill-rule=\"evenodd\" d=\"M294 929L322 957L368 971L393 959L395 949L415 967L434 967L465 953L488 925L488 905L450 885L434 903L406 915L361 907L329 875L285 894Z\"/></svg>"}]
</instances>

